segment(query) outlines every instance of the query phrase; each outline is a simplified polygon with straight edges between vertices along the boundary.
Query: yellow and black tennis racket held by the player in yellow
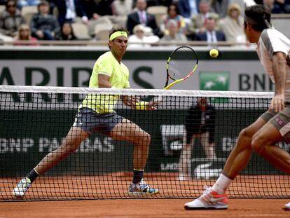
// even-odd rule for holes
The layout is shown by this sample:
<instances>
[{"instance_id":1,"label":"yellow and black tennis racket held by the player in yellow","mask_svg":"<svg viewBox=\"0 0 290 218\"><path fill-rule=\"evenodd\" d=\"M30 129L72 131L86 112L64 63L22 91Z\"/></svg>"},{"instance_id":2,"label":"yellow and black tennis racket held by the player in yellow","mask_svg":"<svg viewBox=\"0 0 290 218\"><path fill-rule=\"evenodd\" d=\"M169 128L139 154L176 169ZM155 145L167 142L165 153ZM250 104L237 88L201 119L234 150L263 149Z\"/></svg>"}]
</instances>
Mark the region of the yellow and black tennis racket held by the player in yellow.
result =
<instances>
[{"instance_id":1,"label":"yellow and black tennis racket held by the player in yellow","mask_svg":"<svg viewBox=\"0 0 290 218\"><path fill-rule=\"evenodd\" d=\"M193 75L195 69L198 67L198 54L193 48L188 46L180 46L170 54L166 64L166 82L163 89L167 90L172 88L177 83L188 79ZM170 79L173 80L169 83ZM158 97L159 102L162 97Z\"/></svg>"}]
</instances>

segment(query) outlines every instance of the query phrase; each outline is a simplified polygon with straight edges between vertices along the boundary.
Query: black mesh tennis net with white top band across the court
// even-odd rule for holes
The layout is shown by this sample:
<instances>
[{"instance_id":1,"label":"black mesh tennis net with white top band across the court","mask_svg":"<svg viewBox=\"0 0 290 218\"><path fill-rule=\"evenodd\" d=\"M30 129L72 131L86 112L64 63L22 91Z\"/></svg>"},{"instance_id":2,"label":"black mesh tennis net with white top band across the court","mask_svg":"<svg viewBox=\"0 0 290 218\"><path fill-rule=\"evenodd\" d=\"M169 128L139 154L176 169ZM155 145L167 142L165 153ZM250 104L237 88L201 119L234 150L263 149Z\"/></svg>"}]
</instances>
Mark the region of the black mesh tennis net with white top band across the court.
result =
<instances>
[{"instance_id":1,"label":"black mesh tennis net with white top band across the court","mask_svg":"<svg viewBox=\"0 0 290 218\"><path fill-rule=\"evenodd\" d=\"M24 198L15 198L11 192L20 179L61 146L86 96L92 96L92 102L103 97L106 104L110 103L106 97L144 101L161 97L158 109L152 111L131 109L120 100L114 106L117 114L151 135L144 179L159 193L128 193L134 145L100 134L107 133L105 122L104 129L99 128L73 154L38 177ZM204 185L211 186L219 177L240 130L268 109L271 97L272 93L0 86L0 201L198 197ZM188 116L189 111L196 112L192 105L204 100L212 111ZM206 126L207 120L205 134L188 128ZM120 131L122 135L130 130ZM189 149L186 132L195 132L193 140L187 139ZM277 146L289 151L287 144ZM212 153L209 147L214 148ZM289 186L289 175L253 154L228 194L231 198L289 198Z\"/></svg>"}]
</instances>

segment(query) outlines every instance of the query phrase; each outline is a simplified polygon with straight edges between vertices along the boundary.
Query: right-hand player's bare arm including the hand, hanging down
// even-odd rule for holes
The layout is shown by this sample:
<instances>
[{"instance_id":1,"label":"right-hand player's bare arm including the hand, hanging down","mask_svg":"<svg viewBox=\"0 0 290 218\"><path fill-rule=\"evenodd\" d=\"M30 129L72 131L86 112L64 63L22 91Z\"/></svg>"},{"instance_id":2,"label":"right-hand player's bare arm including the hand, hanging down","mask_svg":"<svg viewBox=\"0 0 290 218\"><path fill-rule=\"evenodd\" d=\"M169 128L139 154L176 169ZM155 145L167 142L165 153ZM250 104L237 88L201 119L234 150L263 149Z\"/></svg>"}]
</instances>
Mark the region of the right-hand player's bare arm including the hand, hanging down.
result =
<instances>
[{"instance_id":1,"label":"right-hand player's bare arm including the hand, hanging down","mask_svg":"<svg viewBox=\"0 0 290 218\"><path fill-rule=\"evenodd\" d=\"M279 112L284 109L284 93L286 82L286 55L282 52L272 56L273 74L275 80L275 95L270 103L270 111Z\"/></svg>"}]
</instances>

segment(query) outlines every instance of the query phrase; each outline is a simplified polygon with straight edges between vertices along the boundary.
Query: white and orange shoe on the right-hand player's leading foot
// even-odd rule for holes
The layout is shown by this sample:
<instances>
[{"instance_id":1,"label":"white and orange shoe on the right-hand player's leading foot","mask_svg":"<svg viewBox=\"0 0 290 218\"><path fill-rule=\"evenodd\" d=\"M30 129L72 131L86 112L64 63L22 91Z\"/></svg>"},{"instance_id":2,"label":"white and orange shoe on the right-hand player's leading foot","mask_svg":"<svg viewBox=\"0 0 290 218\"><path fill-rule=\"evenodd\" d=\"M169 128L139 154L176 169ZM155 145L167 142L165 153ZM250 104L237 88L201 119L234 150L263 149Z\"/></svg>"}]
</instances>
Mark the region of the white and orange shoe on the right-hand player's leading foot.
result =
<instances>
[{"instance_id":1,"label":"white and orange shoe on the right-hand player's leading foot","mask_svg":"<svg viewBox=\"0 0 290 218\"><path fill-rule=\"evenodd\" d=\"M226 194L219 194L211 187L205 186L205 191L199 198L184 205L186 210L226 210L228 209L228 197Z\"/></svg>"}]
</instances>

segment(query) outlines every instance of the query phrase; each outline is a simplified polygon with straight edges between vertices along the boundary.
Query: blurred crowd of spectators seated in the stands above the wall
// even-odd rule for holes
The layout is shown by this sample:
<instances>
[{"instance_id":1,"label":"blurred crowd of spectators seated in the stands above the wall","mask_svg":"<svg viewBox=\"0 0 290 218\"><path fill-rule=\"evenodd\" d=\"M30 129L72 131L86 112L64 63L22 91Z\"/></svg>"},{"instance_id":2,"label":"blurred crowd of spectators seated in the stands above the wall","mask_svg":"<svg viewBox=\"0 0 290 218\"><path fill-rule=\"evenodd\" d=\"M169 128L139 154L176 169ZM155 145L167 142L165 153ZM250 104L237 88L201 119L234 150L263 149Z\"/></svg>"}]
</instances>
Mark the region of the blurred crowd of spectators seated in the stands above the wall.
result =
<instances>
[{"instance_id":1,"label":"blurred crowd of spectators seated in the stands above the wall","mask_svg":"<svg viewBox=\"0 0 290 218\"><path fill-rule=\"evenodd\" d=\"M5 6L0 13L2 41L102 40L107 36L103 37L101 30L106 29L108 34L116 24L127 27L132 43L246 42L242 1L239 4L233 0L0 0L0 4ZM256 4L265 4L272 13L290 13L290 0L256 0ZM22 13L27 6L36 8L30 17ZM151 6L167 7L167 12L158 20L147 12ZM78 29L80 25L88 31L85 38L75 33L85 32Z\"/></svg>"}]
</instances>

